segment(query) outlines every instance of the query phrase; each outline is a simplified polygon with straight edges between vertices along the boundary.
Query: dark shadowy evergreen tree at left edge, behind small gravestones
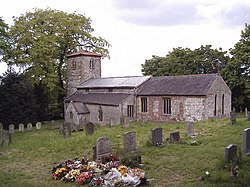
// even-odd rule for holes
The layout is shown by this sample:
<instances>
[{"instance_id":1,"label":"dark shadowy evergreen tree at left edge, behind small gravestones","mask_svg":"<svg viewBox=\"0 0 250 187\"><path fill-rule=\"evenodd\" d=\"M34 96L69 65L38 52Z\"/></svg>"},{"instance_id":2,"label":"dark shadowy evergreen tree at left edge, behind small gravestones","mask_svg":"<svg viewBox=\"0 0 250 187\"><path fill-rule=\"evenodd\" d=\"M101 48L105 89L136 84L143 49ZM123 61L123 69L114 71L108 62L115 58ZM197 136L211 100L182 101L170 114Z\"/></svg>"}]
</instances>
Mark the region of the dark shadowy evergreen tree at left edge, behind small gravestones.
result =
<instances>
[{"instance_id":1,"label":"dark shadowy evergreen tree at left edge, behind small gravestones","mask_svg":"<svg viewBox=\"0 0 250 187\"><path fill-rule=\"evenodd\" d=\"M17 125L36 121L33 85L24 74L18 74L9 67L1 79L0 98L0 119L5 128L11 123Z\"/></svg>"}]
</instances>

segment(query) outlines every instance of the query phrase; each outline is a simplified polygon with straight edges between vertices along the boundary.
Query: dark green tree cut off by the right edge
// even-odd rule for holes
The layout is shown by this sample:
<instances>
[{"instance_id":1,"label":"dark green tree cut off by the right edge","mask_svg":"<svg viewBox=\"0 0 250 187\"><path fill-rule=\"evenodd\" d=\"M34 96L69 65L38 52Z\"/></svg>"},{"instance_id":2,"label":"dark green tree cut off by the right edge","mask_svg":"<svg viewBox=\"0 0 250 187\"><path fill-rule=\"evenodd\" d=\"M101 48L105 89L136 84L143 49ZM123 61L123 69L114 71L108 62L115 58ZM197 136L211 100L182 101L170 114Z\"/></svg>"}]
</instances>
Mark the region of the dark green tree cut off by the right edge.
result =
<instances>
[{"instance_id":1,"label":"dark green tree cut off by the right edge","mask_svg":"<svg viewBox=\"0 0 250 187\"><path fill-rule=\"evenodd\" d=\"M241 39L230 54L232 57L223 70L223 76L233 92L233 106L239 110L250 106L250 25L245 25Z\"/></svg>"}]
</instances>

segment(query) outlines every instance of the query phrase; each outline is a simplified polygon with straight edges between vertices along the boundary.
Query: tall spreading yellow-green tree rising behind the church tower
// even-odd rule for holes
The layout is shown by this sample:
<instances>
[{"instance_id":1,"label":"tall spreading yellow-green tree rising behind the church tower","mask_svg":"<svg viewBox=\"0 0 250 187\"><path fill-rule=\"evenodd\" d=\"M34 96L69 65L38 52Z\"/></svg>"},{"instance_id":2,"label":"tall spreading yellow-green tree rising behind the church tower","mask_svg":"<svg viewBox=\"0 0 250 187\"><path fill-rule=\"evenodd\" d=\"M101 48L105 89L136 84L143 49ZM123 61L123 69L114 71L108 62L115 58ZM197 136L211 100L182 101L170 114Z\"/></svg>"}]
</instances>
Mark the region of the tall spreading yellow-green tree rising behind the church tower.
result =
<instances>
[{"instance_id":1,"label":"tall spreading yellow-green tree rising behind the church tower","mask_svg":"<svg viewBox=\"0 0 250 187\"><path fill-rule=\"evenodd\" d=\"M25 68L37 85L44 85L50 102L63 105L65 96L65 56L77 47L106 57L110 44L91 33L91 20L81 14L51 9L35 9L14 19L10 27L10 47L4 55L8 64Z\"/></svg>"}]
</instances>

